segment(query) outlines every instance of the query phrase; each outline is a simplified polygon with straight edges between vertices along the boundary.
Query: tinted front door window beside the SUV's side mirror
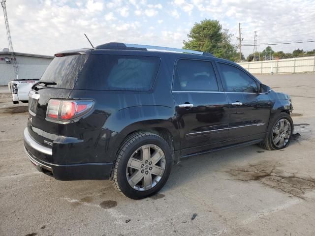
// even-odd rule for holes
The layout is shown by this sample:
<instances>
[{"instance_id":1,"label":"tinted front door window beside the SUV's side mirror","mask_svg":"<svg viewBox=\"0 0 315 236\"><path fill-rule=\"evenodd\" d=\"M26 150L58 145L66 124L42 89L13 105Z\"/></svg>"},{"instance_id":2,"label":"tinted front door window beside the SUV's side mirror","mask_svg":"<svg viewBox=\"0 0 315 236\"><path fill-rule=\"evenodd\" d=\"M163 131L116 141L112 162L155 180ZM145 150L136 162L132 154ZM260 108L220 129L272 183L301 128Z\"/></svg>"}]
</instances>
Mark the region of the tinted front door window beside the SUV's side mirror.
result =
<instances>
[{"instance_id":1,"label":"tinted front door window beside the SUV's side mirror","mask_svg":"<svg viewBox=\"0 0 315 236\"><path fill-rule=\"evenodd\" d=\"M239 68L218 63L224 90L227 92L258 92L256 82Z\"/></svg>"}]
</instances>

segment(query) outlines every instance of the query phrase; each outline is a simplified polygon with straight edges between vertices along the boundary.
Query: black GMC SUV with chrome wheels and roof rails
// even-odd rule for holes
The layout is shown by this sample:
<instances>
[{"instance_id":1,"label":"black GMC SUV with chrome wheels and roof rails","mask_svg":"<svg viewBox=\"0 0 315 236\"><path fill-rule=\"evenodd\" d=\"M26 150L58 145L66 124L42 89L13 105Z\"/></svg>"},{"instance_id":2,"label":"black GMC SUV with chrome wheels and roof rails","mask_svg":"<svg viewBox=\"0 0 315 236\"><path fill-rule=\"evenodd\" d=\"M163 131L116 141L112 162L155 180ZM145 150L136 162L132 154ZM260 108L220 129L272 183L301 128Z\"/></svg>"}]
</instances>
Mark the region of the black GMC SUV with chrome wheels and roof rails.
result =
<instances>
[{"instance_id":1,"label":"black GMC SUV with chrome wheels and roof rails","mask_svg":"<svg viewBox=\"0 0 315 236\"><path fill-rule=\"evenodd\" d=\"M58 53L29 97L24 146L39 171L110 177L132 199L161 189L181 157L282 149L293 132L288 95L190 50L108 43Z\"/></svg>"}]
</instances>

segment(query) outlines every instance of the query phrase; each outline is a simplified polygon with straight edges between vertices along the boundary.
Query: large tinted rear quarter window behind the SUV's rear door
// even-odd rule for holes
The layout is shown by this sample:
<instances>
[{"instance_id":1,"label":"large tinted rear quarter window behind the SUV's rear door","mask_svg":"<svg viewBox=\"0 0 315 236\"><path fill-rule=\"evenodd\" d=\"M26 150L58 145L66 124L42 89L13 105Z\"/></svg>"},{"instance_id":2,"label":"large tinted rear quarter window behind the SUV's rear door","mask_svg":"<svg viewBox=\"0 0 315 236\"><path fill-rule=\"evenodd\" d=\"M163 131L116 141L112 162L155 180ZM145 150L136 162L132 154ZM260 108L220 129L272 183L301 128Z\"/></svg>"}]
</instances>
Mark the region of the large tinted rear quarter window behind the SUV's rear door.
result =
<instances>
[{"instance_id":1,"label":"large tinted rear quarter window behind the SUV's rear door","mask_svg":"<svg viewBox=\"0 0 315 236\"><path fill-rule=\"evenodd\" d=\"M76 89L148 91L158 72L159 58L91 55Z\"/></svg>"}]
</instances>

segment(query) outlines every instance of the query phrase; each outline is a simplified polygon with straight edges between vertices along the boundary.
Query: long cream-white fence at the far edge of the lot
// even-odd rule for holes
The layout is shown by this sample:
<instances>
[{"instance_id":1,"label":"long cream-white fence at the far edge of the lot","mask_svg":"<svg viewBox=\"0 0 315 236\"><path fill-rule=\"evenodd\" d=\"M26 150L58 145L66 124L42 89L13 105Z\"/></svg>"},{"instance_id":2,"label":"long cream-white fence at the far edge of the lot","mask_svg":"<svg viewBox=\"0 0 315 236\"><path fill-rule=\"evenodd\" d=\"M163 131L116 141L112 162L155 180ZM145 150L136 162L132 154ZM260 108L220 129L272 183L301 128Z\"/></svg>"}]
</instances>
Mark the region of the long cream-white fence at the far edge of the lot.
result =
<instances>
[{"instance_id":1,"label":"long cream-white fence at the far edge of the lot","mask_svg":"<svg viewBox=\"0 0 315 236\"><path fill-rule=\"evenodd\" d=\"M315 56L279 60L240 62L252 74L315 73Z\"/></svg>"}]
</instances>

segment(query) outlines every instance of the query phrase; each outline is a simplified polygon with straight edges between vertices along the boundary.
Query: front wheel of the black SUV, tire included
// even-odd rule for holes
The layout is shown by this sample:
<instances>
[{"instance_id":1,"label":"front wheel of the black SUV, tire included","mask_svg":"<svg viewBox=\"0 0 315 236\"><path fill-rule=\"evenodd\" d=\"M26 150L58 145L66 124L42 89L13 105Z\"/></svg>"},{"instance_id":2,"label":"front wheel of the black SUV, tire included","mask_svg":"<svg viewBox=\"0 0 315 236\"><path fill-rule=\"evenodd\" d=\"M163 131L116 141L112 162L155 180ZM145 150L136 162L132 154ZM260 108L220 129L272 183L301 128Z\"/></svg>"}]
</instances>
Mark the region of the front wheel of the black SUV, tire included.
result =
<instances>
[{"instance_id":1,"label":"front wheel of the black SUV, tire included","mask_svg":"<svg viewBox=\"0 0 315 236\"><path fill-rule=\"evenodd\" d=\"M272 122L272 125L268 128L266 138L260 146L267 150L286 148L291 142L293 134L292 118L282 112L278 117L274 118Z\"/></svg>"}]
</instances>

